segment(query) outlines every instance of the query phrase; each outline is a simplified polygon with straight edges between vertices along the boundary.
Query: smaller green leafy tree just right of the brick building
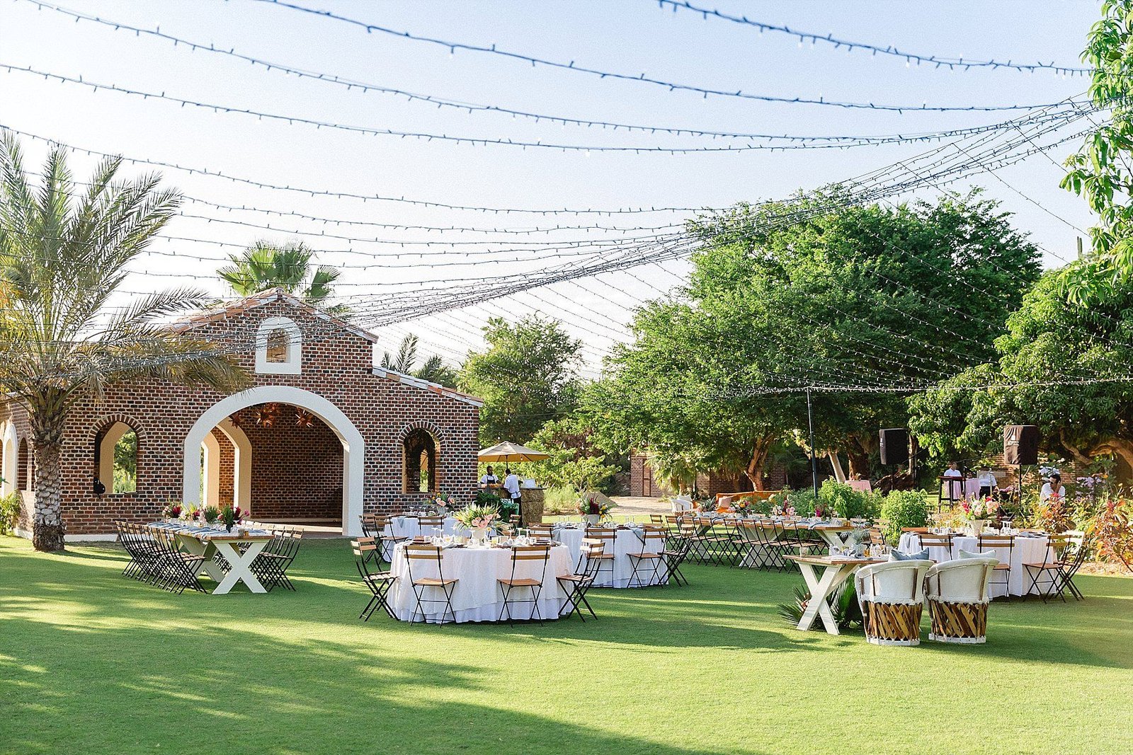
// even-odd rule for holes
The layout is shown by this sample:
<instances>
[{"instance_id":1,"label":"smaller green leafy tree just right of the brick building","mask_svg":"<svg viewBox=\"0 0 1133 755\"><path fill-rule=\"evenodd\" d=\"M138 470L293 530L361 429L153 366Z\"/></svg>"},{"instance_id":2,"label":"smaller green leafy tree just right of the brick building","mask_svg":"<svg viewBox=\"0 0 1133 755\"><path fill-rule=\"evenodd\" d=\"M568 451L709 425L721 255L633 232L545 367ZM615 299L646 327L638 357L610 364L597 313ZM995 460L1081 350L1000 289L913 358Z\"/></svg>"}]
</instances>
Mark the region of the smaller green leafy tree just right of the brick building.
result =
<instances>
[{"instance_id":1,"label":"smaller green leafy tree just right of the brick building","mask_svg":"<svg viewBox=\"0 0 1133 755\"><path fill-rule=\"evenodd\" d=\"M557 320L538 316L516 324L494 317L484 327L487 349L470 352L460 387L484 398L480 441L528 441L544 423L566 415L579 392L582 342Z\"/></svg>"}]
</instances>

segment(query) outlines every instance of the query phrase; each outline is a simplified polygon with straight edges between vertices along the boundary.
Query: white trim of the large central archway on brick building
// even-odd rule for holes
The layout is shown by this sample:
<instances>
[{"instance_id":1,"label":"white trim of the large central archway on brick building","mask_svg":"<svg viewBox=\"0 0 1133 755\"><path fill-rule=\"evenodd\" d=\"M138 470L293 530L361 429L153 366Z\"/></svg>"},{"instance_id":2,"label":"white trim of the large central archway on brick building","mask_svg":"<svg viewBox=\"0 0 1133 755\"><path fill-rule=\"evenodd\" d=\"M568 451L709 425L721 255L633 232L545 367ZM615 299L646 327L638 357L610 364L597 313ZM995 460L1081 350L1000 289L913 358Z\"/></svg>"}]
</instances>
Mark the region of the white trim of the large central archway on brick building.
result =
<instances>
[{"instance_id":1,"label":"white trim of the large central archway on brick building","mask_svg":"<svg viewBox=\"0 0 1133 755\"><path fill-rule=\"evenodd\" d=\"M365 487L366 443L361 432L342 411L317 393L284 385L248 388L222 398L202 414L185 437L185 467L181 497L187 504L201 504L201 444L205 435L224 418L255 404L279 402L312 412L323 420L342 443L342 534L361 534L363 491Z\"/></svg>"}]
</instances>

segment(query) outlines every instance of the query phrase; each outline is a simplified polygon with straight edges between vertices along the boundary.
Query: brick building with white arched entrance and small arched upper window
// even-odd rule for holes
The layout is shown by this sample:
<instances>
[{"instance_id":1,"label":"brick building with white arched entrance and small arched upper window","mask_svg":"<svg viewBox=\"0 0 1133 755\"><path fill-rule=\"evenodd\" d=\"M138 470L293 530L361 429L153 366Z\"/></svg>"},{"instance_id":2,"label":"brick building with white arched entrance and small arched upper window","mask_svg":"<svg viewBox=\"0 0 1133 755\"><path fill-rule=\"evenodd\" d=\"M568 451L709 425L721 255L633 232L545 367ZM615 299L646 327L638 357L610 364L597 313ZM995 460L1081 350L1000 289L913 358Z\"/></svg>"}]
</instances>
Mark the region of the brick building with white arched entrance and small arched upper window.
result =
<instances>
[{"instance_id":1,"label":"brick building with white arched entrance and small arched upper window","mask_svg":"<svg viewBox=\"0 0 1133 755\"><path fill-rule=\"evenodd\" d=\"M483 402L377 367L374 335L280 290L172 327L231 349L252 387L224 395L145 379L84 400L62 441L68 539L110 537L116 520L153 521L171 500L358 534L364 512L475 495ZM24 410L0 404L2 492L24 496L22 534L34 499L31 443Z\"/></svg>"}]
</instances>

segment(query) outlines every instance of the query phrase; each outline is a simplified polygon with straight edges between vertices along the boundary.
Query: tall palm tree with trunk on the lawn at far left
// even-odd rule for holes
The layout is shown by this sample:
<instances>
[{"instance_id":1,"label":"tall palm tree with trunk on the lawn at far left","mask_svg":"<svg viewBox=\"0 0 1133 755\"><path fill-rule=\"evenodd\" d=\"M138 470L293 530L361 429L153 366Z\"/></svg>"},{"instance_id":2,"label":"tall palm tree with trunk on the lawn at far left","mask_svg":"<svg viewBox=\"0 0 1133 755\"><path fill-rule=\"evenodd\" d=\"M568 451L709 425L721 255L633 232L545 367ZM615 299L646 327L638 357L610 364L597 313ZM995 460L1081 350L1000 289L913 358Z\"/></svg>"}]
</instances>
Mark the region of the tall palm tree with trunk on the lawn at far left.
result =
<instances>
[{"instance_id":1,"label":"tall palm tree with trunk on the lawn at far left","mask_svg":"<svg viewBox=\"0 0 1133 755\"><path fill-rule=\"evenodd\" d=\"M42 186L24 172L19 144L0 138L0 391L27 410L35 453L32 540L61 550L60 456L67 414L101 397L113 383L161 378L232 389L245 375L215 344L174 334L162 320L207 303L204 292L178 289L107 302L126 265L172 217L180 195L159 190L159 177L116 181L121 160L102 161L85 190L53 147Z\"/></svg>"}]
</instances>

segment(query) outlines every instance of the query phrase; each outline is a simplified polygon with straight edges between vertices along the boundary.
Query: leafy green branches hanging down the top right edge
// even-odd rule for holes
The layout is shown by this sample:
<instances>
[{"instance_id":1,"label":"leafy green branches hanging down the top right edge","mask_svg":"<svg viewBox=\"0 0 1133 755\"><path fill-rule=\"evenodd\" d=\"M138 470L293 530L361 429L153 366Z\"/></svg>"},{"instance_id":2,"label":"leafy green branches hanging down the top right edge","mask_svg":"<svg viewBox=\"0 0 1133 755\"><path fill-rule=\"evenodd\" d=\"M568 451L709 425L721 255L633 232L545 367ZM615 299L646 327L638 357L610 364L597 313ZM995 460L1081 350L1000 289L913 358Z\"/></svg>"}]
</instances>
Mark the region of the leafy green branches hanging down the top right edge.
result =
<instances>
[{"instance_id":1,"label":"leafy green branches hanging down the top right edge","mask_svg":"<svg viewBox=\"0 0 1133 755\"><path fill-rule=\"evenodd\" d=\"M1098 215L1085 264L1065 278L1072 301L1090 303L1133 280L1133 0L1106 0L1090 29L1082 61L1093 67L1090 98L1109 113L1066 161L1062 187Z\"/></svg>"}]
</instances>

